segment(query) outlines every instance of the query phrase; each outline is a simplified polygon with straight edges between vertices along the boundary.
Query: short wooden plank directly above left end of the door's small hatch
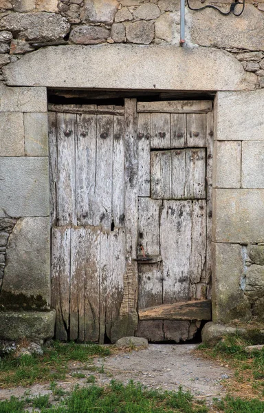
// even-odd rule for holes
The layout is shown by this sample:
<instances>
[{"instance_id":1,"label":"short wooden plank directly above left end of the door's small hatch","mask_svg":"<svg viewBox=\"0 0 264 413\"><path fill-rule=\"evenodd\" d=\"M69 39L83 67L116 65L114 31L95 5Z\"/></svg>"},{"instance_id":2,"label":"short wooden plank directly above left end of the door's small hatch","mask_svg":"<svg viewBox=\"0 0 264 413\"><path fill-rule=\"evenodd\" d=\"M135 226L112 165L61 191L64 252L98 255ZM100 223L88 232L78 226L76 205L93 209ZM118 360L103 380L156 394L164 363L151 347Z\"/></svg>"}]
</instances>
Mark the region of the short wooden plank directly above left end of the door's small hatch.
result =
<instances>
[{"instance_id":1,"label":"short wooden plank directly above left end of the door's small hatch","mask_svg":"<svg viewBox=\"0 0 264 413\"><path fill-rule=\"evenodd\" d=\"M151 148L170 148L170 114L151 114Z\"/></svg>"}]
</instances>

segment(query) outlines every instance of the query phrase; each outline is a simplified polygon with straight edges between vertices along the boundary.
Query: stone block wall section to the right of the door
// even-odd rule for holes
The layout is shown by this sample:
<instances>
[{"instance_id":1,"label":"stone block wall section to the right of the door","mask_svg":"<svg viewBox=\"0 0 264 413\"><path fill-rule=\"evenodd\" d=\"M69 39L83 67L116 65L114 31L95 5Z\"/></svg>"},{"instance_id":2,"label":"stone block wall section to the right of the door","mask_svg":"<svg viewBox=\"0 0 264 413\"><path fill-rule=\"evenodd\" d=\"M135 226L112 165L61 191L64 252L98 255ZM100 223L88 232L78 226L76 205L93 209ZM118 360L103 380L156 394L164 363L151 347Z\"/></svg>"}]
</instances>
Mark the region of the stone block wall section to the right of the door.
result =
<instances>
[{"instance_id":1,"label":"stone block wall section to the right of the door","mask_svg":"<svg viewBox=\"0 0 264 413\"><path fill-rule=\"evenodd\" d=\"M264 91L214 109L213 321L264 321Z\"/></svg>"}]
</instances>

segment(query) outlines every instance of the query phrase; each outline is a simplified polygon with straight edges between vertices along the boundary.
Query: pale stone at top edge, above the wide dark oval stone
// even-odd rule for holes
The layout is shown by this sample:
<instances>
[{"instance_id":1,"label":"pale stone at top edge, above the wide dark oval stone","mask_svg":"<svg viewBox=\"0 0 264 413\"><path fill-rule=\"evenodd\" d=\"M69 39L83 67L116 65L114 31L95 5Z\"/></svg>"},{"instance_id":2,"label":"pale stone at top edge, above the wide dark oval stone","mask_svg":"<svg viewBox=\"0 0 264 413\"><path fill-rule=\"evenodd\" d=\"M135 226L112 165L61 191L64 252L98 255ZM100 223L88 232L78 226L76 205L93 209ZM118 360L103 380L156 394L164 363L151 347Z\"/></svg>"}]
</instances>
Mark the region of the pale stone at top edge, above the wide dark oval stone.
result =
<instances>
[{"instance_id":1,"label":"pale stone at top edge, above the wide dark oval stone","mask_svg":"<svg viewBox=\"0 0 264 413\"><path fill-rule=\"evenodd\" d=\"M116 0L85 0L80 18L85 23L112 24L119 3Z\"/></svg>"}]
</instances>

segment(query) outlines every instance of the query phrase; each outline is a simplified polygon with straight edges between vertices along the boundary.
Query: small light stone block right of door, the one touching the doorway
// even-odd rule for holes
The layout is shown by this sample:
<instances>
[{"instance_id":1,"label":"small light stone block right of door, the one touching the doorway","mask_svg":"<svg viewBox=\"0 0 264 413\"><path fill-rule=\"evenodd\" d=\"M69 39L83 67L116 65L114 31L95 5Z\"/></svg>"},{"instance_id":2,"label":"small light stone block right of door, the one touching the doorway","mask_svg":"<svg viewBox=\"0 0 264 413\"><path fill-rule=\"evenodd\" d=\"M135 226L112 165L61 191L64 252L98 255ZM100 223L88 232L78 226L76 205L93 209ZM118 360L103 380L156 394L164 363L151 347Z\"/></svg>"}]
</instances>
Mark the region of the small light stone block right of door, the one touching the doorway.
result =
<instances>
[{"instance_id":1,"label":"small light stone block right of door, the one touching the doorway","mask_svg":"<svg viewBox=\"0 0 264 413\"><path fill-rule=\"evenodd\" d=\"M212 186L214 188L241 187L241 142L215 141Z\"/></svg>"}]
</instances>

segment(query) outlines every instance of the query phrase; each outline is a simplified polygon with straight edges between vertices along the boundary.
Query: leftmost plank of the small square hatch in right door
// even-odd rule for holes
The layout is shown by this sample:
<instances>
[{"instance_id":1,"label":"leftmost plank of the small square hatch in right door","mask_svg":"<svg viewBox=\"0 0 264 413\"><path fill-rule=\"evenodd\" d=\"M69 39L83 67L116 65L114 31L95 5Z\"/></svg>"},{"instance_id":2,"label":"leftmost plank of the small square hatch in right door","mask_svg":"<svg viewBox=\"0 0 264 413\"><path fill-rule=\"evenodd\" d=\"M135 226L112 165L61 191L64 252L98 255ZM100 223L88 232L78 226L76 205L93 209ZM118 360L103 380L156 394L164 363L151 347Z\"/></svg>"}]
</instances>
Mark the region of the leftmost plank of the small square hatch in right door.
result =
<instances>
[{"instance_id":1,"label":"leftmost plank of the small square hatch in right door","mask_svg":"<svg viewBox=\"0 0 264 413\"><path fill-rule=\"evenodd\" d=\"M151 198L171 198L171 153L151 152Z\"/></svg>"}]
</instances>

